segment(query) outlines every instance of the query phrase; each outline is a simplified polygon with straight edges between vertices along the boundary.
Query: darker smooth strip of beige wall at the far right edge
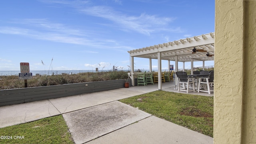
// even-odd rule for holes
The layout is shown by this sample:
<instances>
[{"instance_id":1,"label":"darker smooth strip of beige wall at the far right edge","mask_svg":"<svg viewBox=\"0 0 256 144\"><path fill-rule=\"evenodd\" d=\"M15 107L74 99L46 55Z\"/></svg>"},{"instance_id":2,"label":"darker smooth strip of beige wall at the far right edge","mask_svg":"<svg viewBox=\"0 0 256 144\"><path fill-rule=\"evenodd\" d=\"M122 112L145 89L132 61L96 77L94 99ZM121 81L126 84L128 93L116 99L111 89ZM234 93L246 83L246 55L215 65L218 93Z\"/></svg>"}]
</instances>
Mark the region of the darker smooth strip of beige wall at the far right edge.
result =
<instances>
[{"instance_id":1,"label":"darker smooth strip of beige wall at the far right edge","mask_svg":"<svg viewBox=\"0 0 256 144\"><path fill-rule=\"evenodd\" d=\"M244 7L242 144L256 144L256 1L245 1Z\"/></svg>"}]
</instances>

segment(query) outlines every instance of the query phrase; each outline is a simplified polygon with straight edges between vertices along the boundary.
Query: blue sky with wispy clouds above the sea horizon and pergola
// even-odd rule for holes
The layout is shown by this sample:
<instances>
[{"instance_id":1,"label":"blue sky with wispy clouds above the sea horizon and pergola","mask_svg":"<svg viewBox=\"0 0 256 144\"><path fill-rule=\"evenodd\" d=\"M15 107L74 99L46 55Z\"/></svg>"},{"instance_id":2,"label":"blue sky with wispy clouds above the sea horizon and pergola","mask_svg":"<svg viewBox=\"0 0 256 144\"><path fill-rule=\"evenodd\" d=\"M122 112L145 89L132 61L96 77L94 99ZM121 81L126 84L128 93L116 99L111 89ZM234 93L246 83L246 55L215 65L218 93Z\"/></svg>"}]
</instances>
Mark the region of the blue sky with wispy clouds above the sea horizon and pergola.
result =
<instances>
[{"instance_id":1,"label":"blue sky with wispy clouds above the sea horizon and pergola","mask_svg":"<svg viewBox=\"0 0 256 144\"><path fill-rule=\"evenodd\" d=\"M127 70L127 51L210 32L214 0L1 0L0 71L20 70L20 62L30 70ZM149 69L148 59L134 63Z\"/></svg>"}]
</instances>

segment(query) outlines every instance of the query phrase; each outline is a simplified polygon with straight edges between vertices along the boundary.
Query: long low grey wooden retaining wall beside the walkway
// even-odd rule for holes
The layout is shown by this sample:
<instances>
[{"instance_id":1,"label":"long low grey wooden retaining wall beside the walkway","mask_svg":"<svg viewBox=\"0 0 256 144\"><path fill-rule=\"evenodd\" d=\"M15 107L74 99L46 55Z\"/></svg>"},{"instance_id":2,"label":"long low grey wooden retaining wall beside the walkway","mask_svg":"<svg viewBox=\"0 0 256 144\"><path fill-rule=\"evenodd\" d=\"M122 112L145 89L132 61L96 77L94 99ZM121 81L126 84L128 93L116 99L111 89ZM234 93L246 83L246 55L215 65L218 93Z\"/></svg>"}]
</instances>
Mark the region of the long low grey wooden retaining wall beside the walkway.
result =
<instances>
[{"instance_id":1,"label":"long low grey wooden retaining wall beside the walkway","mask_svg":"<svg viewBox=\"0 0 256 144\"><path fill-rule=\"evenodd\" d=\"M131 79L128 79L131 86ZM0 106L55 99L124 87L124 79L0 90Z\"/></svg>"}]
</instances>

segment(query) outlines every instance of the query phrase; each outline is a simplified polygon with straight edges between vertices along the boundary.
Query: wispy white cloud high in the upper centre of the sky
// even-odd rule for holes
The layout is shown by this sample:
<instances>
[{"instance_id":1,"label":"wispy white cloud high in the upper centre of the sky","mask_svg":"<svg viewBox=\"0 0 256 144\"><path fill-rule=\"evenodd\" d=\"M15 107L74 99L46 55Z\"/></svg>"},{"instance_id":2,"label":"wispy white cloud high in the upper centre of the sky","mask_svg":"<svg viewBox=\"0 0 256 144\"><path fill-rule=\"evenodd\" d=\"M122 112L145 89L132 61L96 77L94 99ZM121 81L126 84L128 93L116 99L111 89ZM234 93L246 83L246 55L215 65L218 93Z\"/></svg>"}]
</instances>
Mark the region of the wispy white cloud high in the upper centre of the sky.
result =
<instances>
[{"instance_id":1,"label":"wispy white cloud high in the upper centre of the sky","mask_svg":"<svg viewBox=\"0 0 256 144\"><path fill-rule=\"evenodd\" d=\"M140 16L127 16L121 12L114 11L107 6L92 6L80 9L84 14L104 18L118 24L120 29L132 30L141 34L150 35L156 30L170 30L163 28L168 26L175 18L161 18L154 15L141 14Z\"/></svg>"}]
</instances>

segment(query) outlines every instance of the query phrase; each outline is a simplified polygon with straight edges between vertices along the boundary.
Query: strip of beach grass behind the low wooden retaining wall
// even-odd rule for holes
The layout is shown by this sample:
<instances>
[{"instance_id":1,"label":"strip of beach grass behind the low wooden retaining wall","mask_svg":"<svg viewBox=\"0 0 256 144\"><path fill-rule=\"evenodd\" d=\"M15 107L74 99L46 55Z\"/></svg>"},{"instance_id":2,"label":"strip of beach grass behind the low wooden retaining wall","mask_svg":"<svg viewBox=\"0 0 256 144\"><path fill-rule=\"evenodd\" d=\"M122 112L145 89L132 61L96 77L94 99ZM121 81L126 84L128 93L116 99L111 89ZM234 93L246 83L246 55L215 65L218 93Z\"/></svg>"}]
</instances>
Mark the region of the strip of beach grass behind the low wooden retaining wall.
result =
<instances>
[{"instance_id":1,"label":"strip of beach grass behind the low wooden retaining wall","mask_svg":"<svg viewBox=\"0 0 256 144\"><path fill-rule=\"evenodd\" d=\"M42 87L93 81L108 81L127 78L127 71L106 71L98 73L87 72L72 75L40 75L37 77L33 77L33 79L28 79L28 87ZM24 80L19 80L17 75L0 76L0 83L0 89L24 88Z\"/></svg>"}]
</instances>

